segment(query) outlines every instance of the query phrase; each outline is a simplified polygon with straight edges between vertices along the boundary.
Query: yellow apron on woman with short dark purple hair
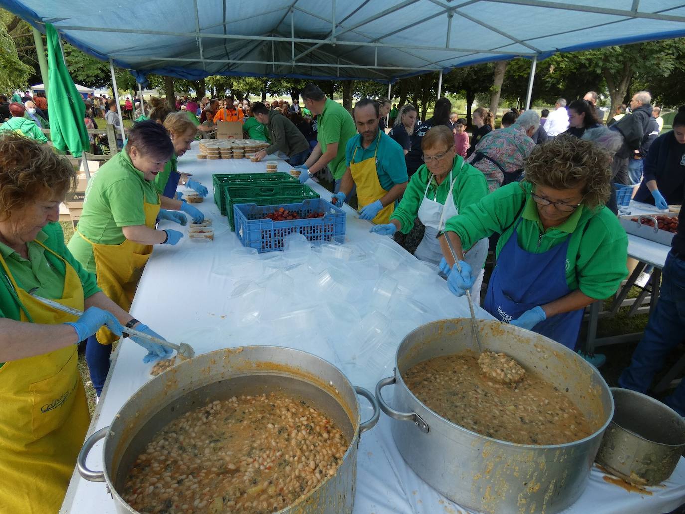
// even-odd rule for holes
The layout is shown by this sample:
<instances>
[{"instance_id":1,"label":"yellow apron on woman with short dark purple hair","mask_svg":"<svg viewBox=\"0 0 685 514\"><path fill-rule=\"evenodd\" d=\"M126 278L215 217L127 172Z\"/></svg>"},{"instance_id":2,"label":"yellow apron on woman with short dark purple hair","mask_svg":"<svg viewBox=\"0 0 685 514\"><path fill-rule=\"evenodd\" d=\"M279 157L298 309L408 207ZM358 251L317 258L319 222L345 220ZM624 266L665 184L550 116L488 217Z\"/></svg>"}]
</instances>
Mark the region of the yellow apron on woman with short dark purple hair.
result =
<instances>
[{"instance_id":1,"label":"yellow apron on woman with short dark purple hair","mask_svg":"<svg viewBox=\"0 0 685 514\"><path fill-rule=\"evenodd\" d=\"M142 210L145 212L145 226L155 228L155 220L160 213L160 204L148 204L143 201ZM134 294L136 294L136 287L142 270L152 253L152 245L140 245L128 239L124 239L123 243L119 245L101 245L93 243L78 230L76 233L92 245L92 254L95 257L95 274L99 288L112 302L123 310L129 310ZM114 335L104 326L97 331L97 341L101 345L111 345L117 339L119 336Z\"/></svg>"}]
</instances>

